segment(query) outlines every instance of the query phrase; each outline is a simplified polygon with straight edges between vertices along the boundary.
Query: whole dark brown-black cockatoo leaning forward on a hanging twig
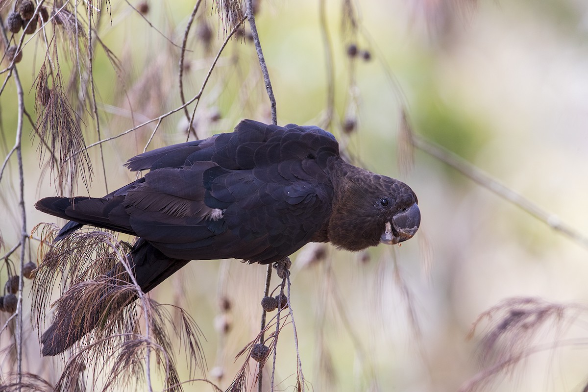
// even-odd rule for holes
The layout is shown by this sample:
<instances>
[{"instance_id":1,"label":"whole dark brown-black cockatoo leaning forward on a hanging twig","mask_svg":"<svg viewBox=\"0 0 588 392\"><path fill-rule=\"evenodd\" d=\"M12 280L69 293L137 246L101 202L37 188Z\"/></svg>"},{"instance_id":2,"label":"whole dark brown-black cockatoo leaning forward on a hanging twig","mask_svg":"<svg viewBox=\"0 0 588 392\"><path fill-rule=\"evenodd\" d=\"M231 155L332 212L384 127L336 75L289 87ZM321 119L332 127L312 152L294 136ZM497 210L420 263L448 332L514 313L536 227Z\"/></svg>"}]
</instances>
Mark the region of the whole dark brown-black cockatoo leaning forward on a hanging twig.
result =
<instances>
[{"instance_id":1,"label":"whole dark brown-black cockatoo leaning forward on a hanging twig","mask_svg":"<svg viewBox=\"0 0 588 392\"><path fill-rule=\"evenodd\" d=\"M415 235L415 193L399 180L346 163L329 132L316 126L243 120L233 133L135 156L144 177L104 197L46 197L36 208L83 225L139 237L129 254L148 292L189 260L272 263L308 242L362 250ZM98 324L58 309L42 336L44 355L61 353Z\"/></svg>"}]
</instances>

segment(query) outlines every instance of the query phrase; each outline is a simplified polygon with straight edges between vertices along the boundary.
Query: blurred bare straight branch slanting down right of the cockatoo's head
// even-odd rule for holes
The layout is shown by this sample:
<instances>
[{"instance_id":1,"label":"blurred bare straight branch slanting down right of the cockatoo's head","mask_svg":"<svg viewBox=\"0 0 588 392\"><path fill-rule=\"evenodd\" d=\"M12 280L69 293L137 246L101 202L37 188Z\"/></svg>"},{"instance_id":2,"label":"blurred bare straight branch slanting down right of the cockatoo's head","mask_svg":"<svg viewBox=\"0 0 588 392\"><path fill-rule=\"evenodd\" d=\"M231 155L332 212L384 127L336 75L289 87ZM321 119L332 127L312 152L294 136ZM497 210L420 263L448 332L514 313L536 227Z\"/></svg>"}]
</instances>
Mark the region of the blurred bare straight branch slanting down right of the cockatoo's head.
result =
<instances>
[{"instance_id":1,"label":"blurred bare straight branch slanting down right of the cockatoo's head","mask_svg":"<svg viewBox=\"0 0 588 392\"><path fill-rule=\"evenodd\" d=\"M414 133L412 133L412 143L417 149L434 156L443 163L453 167L453 169L456 169L458 172L462 173L478 185L485 187L508 202L513 203L513 205L526 211L531 216L536 217L543 223L546 223L546 225L551 227L553 230L563 233L567 237L570 237L570 239L588 248L588 237L577 232L577 230L572 229L572 227L566 225L566 223L563 223L559 216L547 212L546 210L537 206L526 197L523 197L514 190L509 189L502 183L490 177L487 173L478 169L476 166L473 166L465 159L460 158L450 150L447 150L442 146L439 146L436 143L423 138L423 136L416 135Z\"/></svg>"}]
</instances>

